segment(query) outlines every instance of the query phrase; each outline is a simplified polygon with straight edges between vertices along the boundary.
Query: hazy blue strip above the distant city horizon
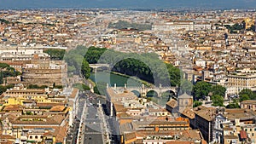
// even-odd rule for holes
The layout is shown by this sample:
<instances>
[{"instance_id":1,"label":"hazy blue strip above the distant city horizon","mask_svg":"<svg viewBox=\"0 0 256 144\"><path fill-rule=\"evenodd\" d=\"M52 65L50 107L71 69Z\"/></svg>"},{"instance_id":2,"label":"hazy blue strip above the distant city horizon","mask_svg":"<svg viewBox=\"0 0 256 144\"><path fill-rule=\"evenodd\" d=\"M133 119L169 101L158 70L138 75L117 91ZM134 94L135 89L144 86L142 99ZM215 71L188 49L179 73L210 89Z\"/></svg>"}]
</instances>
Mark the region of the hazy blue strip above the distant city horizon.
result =
<instances>
[{"instance_id":1,"label":"hazy blue strip above the distant city horizon","mask_svg":"<svg viewBox=\"0 0 256 144\"><path fill-rule=\"evenodd\" d=\"M256 0L0 0L0 9L38 8L255 9Z\"/></svg>"}]
</instances>

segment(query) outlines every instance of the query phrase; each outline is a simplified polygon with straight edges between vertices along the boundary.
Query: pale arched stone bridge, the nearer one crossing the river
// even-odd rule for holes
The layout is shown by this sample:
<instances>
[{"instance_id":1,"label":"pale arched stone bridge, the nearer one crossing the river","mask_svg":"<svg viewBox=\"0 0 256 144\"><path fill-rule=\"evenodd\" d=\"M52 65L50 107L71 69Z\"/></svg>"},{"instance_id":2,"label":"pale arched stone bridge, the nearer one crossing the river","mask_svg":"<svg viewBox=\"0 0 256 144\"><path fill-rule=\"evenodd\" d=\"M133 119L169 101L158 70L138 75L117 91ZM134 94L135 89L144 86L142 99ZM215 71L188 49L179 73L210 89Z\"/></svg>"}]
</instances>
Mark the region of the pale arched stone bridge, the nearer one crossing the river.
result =
<instances>
[{"instance_id":1,"label":"pale arched stone bridge, the nearer one crossing the river","mask_svg":"<svg viewBox=\"0 0 256 144\"><path fill-rule=\"evenodd\" d=\"M114 86L114 88L117 88L116 86ZM118 87L118 88L121 88L121 87ZM141 96L146 96L147 94L148 94L148 92L149 91L154 91L155 93L157 93L157 96L161 96L163 93L166 93L166 92L168 92L168 93L170 93L170 92L172 92L174 95L176 95L177 96L177 87L171 87L171 86L169 86L169 87L162 87L162 86L160 86L160 87L150 87L150 88L148 88L148 87L145 87L144 85L142 85L141 87L139 87L139 86L126 86L126 84L125 84L125 89L128 89L129 91L132 91L132 92L134 92L134 91L137 91L137 92L139 92L139 94L141 95Z\"/></svg>"}]
</instances>

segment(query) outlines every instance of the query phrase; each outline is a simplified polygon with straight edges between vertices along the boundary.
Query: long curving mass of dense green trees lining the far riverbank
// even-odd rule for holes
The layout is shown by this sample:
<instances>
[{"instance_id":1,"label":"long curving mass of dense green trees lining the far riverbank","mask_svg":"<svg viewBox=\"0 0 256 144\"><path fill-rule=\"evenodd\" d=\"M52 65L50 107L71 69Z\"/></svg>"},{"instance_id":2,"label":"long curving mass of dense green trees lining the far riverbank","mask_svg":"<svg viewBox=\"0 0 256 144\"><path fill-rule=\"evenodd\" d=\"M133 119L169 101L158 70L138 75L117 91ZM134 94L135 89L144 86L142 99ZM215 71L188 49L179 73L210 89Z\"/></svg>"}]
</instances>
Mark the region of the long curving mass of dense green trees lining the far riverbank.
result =
<instances>
[{"instance_id":1,"label":"long curving mass of dense green trees lining the far riverbank","mask_svg":"<svg viewBox=\"0 0 256 144\"><path fill-rule=\"evenodd\" d=\"M156 54L122 53L110 49L79 46L70 50L64 60L68 64L68 72L90 77L89 64L107 63L113 72L137 76L156 85L180 85L183 73L171 64L165 64Z\"/></svg>"}]
</instances>

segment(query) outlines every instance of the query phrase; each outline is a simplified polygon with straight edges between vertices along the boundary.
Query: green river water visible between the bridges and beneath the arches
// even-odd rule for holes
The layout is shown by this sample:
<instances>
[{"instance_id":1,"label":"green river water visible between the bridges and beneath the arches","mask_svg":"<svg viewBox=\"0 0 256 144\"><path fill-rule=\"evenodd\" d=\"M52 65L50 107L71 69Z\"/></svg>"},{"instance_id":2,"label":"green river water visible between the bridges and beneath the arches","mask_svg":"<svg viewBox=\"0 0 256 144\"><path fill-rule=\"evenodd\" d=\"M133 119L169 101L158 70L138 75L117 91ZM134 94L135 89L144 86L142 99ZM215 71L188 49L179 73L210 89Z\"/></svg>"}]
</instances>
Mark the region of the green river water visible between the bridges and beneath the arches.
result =
<instances>
[{"instance_id":1,"label":"green river water visible between the bridges and beneath the arches","mask_svg":"<svg viewBox=\"0 0 256 144\"><path fill-rule=\"evenodd\" d=\"M116 84L117 87L125 87L125 84L127 84L127 87L129 88L129 86L131 87L141 87L142 83L140 82L140 80L136 79L136 78L129 78L129 76L124 77L118 74L114 74L114 73L110 73L110 72L92 72L90 73L90 79L95 82L95 83L99 83L99 82L105 82L108 83L109 86L114 86L114 84ZM107 85L106 85L107 87ZM133 92L133 91L132 91ZM135 95L139 96L139 94L137 92L134 92ZM152 101L158 103L160 106L165 107L166 106L166 102L170 100L170 96L169 95L162 95L160 97L158 97L154 91L149 91L147 94L147 97L151 97Z\"/></svg>"}]
</instances>

